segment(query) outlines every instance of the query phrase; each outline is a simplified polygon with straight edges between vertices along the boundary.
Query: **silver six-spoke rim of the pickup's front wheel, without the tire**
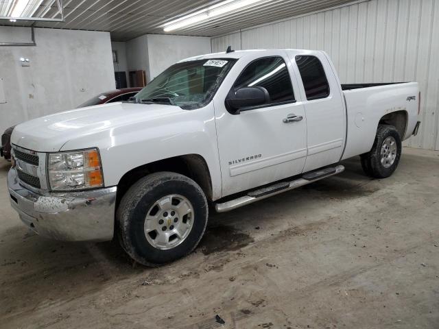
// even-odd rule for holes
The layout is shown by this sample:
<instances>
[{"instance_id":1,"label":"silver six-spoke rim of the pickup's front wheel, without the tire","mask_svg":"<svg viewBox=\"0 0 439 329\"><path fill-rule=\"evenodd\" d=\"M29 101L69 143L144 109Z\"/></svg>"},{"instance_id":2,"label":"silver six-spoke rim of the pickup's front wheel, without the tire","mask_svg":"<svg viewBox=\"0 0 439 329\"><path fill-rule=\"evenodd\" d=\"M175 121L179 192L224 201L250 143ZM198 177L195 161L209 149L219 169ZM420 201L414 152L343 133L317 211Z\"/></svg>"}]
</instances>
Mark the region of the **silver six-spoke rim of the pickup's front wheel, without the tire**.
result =
<instances>
[{"instance_id":1,"label":"silver six-spoke rim of the pickup's front wheel, without the tire","mask_svg":"<svg viewBox=\"0 0 439 329\"><path fill-rule=\"evenodd\" d=\"M193 226L193 206L186 197L167 195L154 202L145 217L145 237L155 248L172 249L187 238Z\"/></svg>"}]
</instances>

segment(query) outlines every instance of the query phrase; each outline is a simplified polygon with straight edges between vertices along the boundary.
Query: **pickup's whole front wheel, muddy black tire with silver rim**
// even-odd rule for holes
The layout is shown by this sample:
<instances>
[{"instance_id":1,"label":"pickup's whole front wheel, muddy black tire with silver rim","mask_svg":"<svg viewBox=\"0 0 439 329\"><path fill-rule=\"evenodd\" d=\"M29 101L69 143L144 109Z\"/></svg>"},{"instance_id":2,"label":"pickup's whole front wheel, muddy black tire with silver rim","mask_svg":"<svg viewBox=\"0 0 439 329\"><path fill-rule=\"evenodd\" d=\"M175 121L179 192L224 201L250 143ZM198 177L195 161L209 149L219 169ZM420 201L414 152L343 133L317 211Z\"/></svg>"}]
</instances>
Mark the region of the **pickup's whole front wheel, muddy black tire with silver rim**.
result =
<instances>
[{"instance_id":1,"label":"pickup's whole front wheel, muddy black tire with silver rim","mask_svg":"<svg viewBox=\"0 0 439 329\"><path fill-rule=\"evenodd\" d=\"M158 266L186 256L206 230L206 197L197 183L171 172L152 173L123 195L119 241L137 263Z\"/></svg>"}]
</instances>

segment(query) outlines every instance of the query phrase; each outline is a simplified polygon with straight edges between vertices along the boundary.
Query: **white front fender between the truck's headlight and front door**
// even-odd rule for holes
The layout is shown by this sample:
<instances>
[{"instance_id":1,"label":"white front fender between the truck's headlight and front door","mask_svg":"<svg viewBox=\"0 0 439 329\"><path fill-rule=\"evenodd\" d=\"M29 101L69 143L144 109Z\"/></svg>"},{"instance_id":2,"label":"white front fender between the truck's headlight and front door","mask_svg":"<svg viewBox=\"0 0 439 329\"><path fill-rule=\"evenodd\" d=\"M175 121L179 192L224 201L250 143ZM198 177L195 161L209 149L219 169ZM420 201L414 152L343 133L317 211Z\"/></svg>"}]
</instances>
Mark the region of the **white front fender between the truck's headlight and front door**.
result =
<instances>
[{"instance_id":1,"label":"white front fender between the truck's headlight and front door","mask_svg":"<svg viewBox=\"0 0 439 329\"><path fill-rule=\"evenodd\" d=\"M68 141L62 150L98 147L105 186L115 186L128 171L150 162L198 154L211 173L213 199L221 197L221 175L213 103L197 110L142 121Z\"/></svg>"}]
</instances>

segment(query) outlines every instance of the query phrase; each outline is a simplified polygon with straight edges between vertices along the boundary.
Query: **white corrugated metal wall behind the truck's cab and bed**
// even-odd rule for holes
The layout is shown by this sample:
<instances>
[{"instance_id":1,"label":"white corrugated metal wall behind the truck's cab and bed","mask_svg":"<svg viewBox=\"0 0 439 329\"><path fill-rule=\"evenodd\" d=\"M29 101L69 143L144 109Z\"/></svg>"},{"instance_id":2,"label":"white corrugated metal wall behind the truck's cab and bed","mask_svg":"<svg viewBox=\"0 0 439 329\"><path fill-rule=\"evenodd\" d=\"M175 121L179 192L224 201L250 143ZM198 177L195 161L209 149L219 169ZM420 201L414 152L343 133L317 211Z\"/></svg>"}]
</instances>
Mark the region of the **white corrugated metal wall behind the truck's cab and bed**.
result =
<instances>
[{"instance_id":1,"label":"white corrugated metal wall behind the truck's cab and bed","mask_svg":"<svg viewBox=\"0 0 439 329\"><path fill-rule=\"evenodd\" d=\"M342 83L416 81L420 133L407 145L439 149L439 1L372 0L212 38L213 51L327 51Z\"/></svg>"}]
</instances>

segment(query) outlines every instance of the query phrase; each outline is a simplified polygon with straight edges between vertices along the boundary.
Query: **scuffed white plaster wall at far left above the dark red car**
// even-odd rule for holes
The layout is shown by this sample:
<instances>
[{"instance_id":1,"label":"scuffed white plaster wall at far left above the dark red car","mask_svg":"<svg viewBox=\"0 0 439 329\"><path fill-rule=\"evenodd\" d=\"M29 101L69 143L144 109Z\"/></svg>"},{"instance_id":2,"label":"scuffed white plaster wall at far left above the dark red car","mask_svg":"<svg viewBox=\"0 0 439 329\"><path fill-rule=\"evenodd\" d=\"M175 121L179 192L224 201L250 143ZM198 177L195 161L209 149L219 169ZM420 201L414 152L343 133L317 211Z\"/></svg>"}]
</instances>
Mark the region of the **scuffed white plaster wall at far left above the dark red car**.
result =
<instances>
[{"instance_id":1,"label":"scuffed white plaster wall at far left above the dark red car","mask_svg":"<svg viewBox=\"0 0 439 329\"><path fill-rule=\"evenodd\" d=\"M23 29L30 35L29 28L0 26L0 42L5 34L9 41L23 41ZM36 46L0 46L0 78L8 101L0 103L0 132L115 88L108 32L35 29L35 39ZM29 67L21 66L21 57L29 58Z\"/></svg>"}]
</instances>

